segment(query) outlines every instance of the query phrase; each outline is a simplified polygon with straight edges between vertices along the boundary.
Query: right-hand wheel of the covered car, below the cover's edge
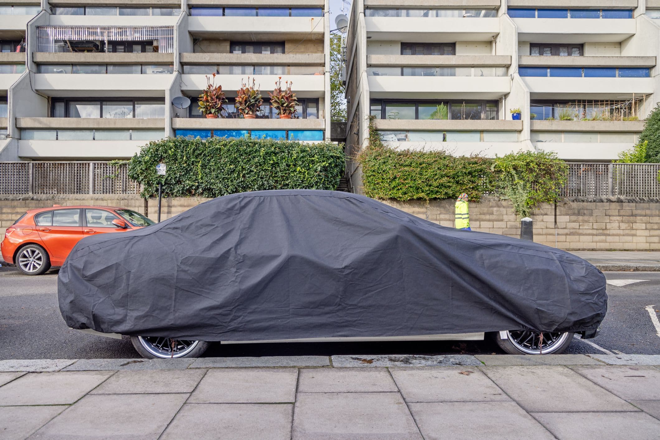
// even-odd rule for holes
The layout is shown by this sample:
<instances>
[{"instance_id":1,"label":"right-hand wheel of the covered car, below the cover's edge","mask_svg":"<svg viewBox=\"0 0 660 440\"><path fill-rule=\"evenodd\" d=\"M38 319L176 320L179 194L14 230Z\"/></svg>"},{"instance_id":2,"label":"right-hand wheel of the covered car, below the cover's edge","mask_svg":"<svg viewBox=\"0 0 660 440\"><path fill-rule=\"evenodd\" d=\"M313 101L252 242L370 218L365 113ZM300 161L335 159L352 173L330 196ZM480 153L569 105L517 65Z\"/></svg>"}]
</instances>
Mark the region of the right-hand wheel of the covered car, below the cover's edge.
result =
<instances>
[{"instance_id":1,"label":"right-hand wheel of the covered car, below the cover's edge","mask_svg":"<svg viewBox=\"0 0 660 440\"><path fill-rule=\"evenodd\" d=\"M529 330L511 330L506 332L506 339L500 333L495 339L508 354L560 354L568 348L573 340L573 333L533 332Z\"/></svg>"}]
</instances>

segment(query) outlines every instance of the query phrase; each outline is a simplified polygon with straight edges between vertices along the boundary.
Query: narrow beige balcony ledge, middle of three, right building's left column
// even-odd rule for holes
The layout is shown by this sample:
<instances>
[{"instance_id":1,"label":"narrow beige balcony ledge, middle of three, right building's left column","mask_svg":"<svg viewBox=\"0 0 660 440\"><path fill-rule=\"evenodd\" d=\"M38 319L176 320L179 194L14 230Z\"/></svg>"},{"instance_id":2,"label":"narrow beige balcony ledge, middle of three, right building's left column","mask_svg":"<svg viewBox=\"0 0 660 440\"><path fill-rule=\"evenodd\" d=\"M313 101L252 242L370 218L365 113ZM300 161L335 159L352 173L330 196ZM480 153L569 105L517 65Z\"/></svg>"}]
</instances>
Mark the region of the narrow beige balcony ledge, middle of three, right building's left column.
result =
<instances>
[{"instance_id":1,"label":"narrow beige balcony ledge, middle of three, right building's left column","mask_svg":"<svg viewBox=\"0 0 660 440\"><path fill-rule=\"evenodd\" d=\"M367 55L369 66L508 67L511 55Z\"/></svg>"}]
</instances>

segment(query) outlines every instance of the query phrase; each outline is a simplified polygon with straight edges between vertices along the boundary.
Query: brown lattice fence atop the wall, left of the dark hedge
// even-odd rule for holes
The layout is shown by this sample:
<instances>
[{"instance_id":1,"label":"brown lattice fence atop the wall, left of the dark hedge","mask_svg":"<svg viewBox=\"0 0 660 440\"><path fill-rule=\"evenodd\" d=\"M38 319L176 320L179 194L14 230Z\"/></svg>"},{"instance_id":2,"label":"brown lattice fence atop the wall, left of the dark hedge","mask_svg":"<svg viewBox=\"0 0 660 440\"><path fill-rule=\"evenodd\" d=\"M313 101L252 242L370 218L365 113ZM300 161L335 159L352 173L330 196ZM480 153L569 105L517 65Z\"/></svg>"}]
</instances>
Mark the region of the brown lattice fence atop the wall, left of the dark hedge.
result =
<instances>
[{"instance_id":1,"label":"brown lattice fence atop the wall, left of the dark hedge","mask_svg":"<svg viewBox=\"0 0 660 440\"><path fill-rule=\"evenodd\" d=\"M139 194L126 164L0 162L0 194Z\"/></svg>"}]
</instances>

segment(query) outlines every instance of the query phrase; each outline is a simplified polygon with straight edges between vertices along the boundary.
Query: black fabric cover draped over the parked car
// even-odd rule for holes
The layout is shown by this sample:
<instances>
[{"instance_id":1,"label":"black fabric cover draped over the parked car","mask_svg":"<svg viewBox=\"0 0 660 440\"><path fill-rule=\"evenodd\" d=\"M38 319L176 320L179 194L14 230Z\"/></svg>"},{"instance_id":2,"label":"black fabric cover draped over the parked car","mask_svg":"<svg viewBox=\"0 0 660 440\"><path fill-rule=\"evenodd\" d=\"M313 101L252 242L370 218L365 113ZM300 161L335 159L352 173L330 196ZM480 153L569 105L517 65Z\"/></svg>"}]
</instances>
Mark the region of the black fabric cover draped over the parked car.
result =
<instances>
[{"instance_id":1,"label":"black fabric cover draped over the parked car","mask_svg":"<svg viewBox=\"0 0 660 440\"><path fill-rule=\"evenodd\" d=\"M607 309L575 255L335 191L228 195L86 237L58 294L74 329L207 341L593 331Z\"/></svg>"}]
</instances>

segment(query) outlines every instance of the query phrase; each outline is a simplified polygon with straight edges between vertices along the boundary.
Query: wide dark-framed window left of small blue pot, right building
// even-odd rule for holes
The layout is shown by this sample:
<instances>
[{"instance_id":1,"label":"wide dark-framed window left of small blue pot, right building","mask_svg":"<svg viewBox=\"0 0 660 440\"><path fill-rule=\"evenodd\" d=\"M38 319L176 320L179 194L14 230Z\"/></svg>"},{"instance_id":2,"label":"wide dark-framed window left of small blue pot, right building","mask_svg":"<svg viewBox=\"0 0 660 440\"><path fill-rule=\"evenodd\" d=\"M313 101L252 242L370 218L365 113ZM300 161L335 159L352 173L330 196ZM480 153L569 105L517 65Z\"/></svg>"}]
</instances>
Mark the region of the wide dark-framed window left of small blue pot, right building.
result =
<instances>
[{"instance_id":1,"label":"wide dark-framed window left of small blue pot, right building","mask_svg":"<svg viewBox=\"0 0 660 440\"><path fill-rule=\"evenodd\" d=\"M395 101L372 100L377 119L498 119L497 101Z\"/></svg>"}]
</instances>

